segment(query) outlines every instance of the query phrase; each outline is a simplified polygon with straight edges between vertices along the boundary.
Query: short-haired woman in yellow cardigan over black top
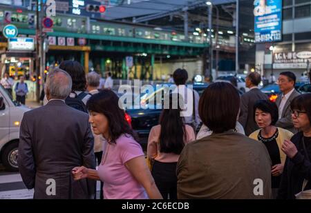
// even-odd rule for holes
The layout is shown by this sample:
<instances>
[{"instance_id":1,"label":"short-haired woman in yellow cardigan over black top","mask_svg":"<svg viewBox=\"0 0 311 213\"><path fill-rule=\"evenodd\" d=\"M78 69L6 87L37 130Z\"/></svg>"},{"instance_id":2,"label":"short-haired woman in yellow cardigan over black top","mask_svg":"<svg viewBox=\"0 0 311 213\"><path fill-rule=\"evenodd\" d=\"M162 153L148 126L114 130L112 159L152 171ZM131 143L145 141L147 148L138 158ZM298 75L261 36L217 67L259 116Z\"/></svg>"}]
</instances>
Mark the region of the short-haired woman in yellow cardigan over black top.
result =
<instances>
[{"instance_id":1,"label":"short-haired woman in yellow cardigan over black top","mask_svg":"<svg viewBox=\"0 0 311 213\"><path fill-rule=\"evenodd\" d=\"M279 110L275 103L266 100L257 101L254 105L254 119L259 130L249 135L249 138L261 141L270 154L272 161L271 183L272 197L276 198L277 190L281 182L285 153L281 150L284 140L292 138L292 132L282 128L276 128L275 123L279 118Z\"/></svg>"}]
</instances>

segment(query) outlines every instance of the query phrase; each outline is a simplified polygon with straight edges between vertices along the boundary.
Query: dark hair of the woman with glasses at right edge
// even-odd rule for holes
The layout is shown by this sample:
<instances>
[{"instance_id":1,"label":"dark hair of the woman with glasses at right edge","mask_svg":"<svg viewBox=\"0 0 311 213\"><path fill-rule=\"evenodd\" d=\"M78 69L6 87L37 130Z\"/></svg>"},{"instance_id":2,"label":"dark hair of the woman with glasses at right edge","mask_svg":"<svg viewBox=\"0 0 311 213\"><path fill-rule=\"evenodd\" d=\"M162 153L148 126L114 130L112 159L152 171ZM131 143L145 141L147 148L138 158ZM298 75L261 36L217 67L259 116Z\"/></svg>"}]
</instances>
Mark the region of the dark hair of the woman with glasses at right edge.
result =
<instances>
[{"instance_id":1,"label":"dark hair of the woman with glasses at right edge","mask_svg":"<svg viewBox=\"0 0 311 213\"><path fill-rule=\"evenodd\" d=\"M307 112L309 122L311 123L311 93L300 94L290 102L292 110Z\"/></svg>"}]
</instances>

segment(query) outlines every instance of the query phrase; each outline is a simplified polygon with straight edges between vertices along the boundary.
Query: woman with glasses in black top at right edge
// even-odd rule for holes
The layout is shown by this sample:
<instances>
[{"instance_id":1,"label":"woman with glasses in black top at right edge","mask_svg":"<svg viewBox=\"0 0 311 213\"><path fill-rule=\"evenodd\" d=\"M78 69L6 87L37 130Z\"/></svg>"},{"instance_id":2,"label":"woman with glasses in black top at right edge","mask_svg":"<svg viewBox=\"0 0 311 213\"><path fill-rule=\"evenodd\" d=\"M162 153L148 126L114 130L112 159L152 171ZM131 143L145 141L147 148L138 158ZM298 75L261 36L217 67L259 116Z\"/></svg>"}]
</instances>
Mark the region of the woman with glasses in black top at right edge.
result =
<instances>
[{"instance_id":1,"label":"woman with glasses in black top at right edge","mask_svg":"<svg viewBox=\"0 0 311 213\"><path fill-rule=\"evenodd\" d=\"M285 140L282 150L287 155L279 199L294 199L295 194L301 192L303 181L308 184L305 190L311 189L311 94L301 94L290 103L294 127L300 132L292 139Z\"/></svg>"}]
</instances>

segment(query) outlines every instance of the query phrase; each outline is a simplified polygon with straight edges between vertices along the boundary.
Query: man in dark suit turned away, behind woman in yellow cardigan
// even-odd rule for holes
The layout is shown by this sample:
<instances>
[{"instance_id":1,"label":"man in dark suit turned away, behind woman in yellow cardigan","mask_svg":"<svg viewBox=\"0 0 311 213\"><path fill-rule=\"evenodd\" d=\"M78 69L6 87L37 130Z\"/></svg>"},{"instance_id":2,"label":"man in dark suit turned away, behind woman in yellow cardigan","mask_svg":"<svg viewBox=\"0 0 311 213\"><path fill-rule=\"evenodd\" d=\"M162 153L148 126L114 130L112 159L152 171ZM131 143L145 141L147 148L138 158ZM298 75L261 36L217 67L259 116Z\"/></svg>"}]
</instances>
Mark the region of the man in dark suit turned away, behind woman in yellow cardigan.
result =
<instances>
[{"instance_id":1,"label":"man in dark suit turned away, behind woman in yellow cardigan","mask_svg":"<svg viewBox=\"0 0 311 213\"><path fill-rule=\"evenodd\" d=\"M243 125L247 136L259 129L254 120L254 103L258 100L267 100L267 95L258 89L259 83L261 83L261 75L258 72L249 73L245 79L245 85L249 91L241 97L241 112L238 121Z\"/></svg>"}]
</instances>

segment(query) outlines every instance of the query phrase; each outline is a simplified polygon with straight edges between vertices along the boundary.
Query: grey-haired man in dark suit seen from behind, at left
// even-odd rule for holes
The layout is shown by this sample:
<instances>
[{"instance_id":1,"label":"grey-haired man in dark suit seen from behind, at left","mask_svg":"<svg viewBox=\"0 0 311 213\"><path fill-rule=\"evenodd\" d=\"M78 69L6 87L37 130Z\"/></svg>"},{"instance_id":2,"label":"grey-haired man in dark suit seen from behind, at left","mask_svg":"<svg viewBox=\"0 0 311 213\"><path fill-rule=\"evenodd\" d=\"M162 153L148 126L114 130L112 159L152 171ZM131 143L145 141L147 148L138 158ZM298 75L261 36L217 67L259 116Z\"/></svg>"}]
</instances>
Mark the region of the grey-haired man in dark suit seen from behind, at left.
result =
<instances>
[{"instance_id":1,"label":"grey-haired man in dark suit seen from behind, at left","mask_svg":"<svg viewBox=\"0 0 311 213\"><path fill-rule=\"evenodd\" d=\"M19 136L19 172L34 199L90 199L95 183L73 181L71 169L95 168L88 114L66 105L72 80L55 69L46 81L48 104L26 112Z\"/></svg>"}]
</instances>

